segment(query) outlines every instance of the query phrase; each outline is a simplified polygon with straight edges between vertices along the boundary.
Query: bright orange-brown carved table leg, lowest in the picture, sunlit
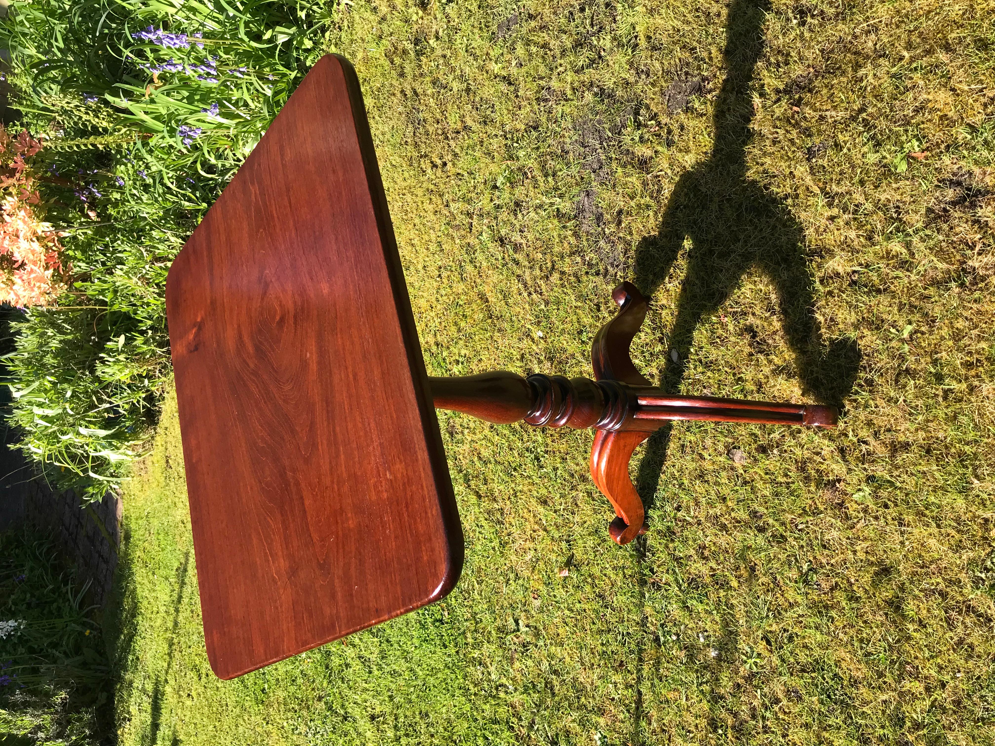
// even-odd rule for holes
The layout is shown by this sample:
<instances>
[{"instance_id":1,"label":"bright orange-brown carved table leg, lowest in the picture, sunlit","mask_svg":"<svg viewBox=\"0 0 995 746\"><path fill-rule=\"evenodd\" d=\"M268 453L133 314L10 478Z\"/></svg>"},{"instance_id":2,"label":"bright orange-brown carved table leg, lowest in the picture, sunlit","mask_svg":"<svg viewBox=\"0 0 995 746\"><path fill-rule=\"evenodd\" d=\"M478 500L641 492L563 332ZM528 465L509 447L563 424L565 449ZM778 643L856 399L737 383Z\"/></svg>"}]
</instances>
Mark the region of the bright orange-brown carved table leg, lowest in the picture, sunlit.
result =
<instances>
[{"instance_id":1,"label":"bright orange-brown carved table leg, lowest in the picture, sunlit","mask_svg":"<svg viewBox=\"0 0 995 746\"><path fill-rule=\"evenodd\" d=\"M599 430L591 446L591 476L604 493L618 517L608 526L608 533L617 544L628 544L646 533L646 513L643 500L629 478L632 452L652 433L612 433Z\"/></svg>"}]
</instances>

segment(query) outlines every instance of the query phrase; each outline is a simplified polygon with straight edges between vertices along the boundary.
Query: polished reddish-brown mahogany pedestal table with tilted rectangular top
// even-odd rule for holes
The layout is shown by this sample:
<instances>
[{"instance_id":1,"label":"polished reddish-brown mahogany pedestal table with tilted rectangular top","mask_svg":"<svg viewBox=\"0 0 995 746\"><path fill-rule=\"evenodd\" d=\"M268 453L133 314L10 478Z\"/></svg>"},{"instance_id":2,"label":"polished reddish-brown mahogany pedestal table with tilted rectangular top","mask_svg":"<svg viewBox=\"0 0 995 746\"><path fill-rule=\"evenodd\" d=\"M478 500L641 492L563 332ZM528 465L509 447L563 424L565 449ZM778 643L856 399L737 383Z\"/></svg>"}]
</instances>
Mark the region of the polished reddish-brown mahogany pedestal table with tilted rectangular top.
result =
<instances>
[{"instance_id":1,"label":"polished reddish-brown mahogany pedestal table with tilted rectangular top","mask_svg":"<svg viewBox=\"0 0 995 746\"><path fill-rule=\"evenodd\" d=\"M671 420L829 427L830 407L669 395L633 366L623 282L595 380L429 378L355 72L327 56L180 252L166 308L207 653L231 678L452 590L463 531L435 408L595 428L619 544L633 450Z\"/></svg>"}]
</instances>

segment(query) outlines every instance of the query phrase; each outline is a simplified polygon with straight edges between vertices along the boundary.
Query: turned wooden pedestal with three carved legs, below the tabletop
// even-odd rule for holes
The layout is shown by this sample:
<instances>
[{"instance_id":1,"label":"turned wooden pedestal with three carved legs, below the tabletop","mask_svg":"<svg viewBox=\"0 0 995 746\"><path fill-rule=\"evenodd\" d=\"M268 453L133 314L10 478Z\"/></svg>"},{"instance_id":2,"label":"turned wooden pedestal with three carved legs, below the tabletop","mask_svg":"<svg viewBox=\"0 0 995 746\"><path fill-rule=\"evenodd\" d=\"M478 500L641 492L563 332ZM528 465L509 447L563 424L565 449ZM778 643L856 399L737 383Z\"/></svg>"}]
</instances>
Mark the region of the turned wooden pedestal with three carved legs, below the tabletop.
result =
<instances>
[{"instance_id":1,"label":"turned wooden pedestal with three carved legs, below the tabletop","mask_svg":"<svg viewBox=\"0 0 995 746\"><path fill-rule=\"evenodd\" d=\"M834 407L742 399L681 396L655 388L632 362L629 345L646 318L647 302L631 282L612 292L619 311L603 325L591 347L597 381L500 371L465 378L430 379L435 406L491 422L516 420L535 426L595 428L591 477L615 508L608 533L627 544L645 533L643 501L629 476L633 452L675 420L768 425L836 426ZM497 419L500 418L500 419Z\"/></svg>"}]
</instances>

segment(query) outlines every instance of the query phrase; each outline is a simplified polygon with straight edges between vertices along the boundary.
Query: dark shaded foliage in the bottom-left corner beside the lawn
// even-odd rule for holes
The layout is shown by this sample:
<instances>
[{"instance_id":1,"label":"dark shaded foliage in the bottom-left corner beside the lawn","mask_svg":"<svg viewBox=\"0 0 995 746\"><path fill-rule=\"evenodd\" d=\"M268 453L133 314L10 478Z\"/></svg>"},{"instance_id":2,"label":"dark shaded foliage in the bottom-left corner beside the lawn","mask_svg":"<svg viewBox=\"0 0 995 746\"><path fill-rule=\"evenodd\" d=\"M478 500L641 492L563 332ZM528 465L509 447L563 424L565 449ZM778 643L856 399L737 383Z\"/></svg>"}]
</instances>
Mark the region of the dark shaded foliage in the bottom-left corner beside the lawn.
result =
<instances>
[{"instance_id":1,"label":"dark shaded foliage in the bottom-left corner beside the lawn","mask_svg":"<svg viewBox=\"0 0 995 746\"><path fill-rule=\"evenodd\" d=\"M0 534L0 744L92 744L109 666L87 588L50 541Z\"/></svg>"}]
</instances>

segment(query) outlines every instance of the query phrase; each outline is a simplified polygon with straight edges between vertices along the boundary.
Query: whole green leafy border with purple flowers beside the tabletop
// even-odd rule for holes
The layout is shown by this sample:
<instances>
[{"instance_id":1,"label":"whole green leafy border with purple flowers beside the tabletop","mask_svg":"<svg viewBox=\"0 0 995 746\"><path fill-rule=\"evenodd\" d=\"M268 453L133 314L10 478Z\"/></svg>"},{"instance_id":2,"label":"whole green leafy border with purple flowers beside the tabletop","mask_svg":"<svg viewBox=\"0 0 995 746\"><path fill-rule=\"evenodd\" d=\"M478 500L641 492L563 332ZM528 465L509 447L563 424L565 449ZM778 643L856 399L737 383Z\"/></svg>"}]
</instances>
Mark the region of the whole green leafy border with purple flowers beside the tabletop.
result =
<instances>
[{"instance_id":1,"label":"whole green leafy border with purple flowers beside the tabletop","mask_svg":"<svg viewBox=\"0 0 995 746\"><path fill-rule=\"evenodd\" d=\"M6 358L22 446L59 486L100 499L142 453L170 373L169 264L316 59L333 7L33 0L0 23L14 105L45 137L47 219L69 229L71 291L13 323Z\"/></svg>"}]
</instances>

